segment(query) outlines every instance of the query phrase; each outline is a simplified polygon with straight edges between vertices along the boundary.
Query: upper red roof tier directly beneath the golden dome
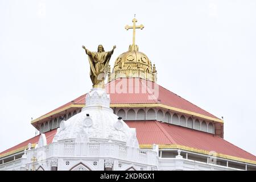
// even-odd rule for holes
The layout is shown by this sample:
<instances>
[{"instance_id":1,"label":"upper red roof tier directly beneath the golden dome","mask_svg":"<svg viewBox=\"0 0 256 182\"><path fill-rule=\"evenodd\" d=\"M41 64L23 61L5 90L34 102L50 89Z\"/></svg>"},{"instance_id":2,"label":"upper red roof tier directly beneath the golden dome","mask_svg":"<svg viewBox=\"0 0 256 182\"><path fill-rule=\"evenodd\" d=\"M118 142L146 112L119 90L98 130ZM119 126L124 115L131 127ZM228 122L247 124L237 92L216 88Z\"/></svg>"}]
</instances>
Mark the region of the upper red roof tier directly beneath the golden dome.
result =
<instances>
[{"instance_id":1,"label":"upper red roof tier directly beneath the golden dome","mask_svg":"<svg viewBox=\"0 0 256 182\"><path fill-rule=\"evenodd\" d=\"M163 88L155 82L146 81L142 78L118 78L117 80L113 80L106 84L105 87L106 92L110 94L110 104L163 104L218 119L216 116ZM144 90L146 91L144 92ZM49 113L72 104L85 104L85 96L86 94L50 111Z\"/></svg>"}]
</instances>

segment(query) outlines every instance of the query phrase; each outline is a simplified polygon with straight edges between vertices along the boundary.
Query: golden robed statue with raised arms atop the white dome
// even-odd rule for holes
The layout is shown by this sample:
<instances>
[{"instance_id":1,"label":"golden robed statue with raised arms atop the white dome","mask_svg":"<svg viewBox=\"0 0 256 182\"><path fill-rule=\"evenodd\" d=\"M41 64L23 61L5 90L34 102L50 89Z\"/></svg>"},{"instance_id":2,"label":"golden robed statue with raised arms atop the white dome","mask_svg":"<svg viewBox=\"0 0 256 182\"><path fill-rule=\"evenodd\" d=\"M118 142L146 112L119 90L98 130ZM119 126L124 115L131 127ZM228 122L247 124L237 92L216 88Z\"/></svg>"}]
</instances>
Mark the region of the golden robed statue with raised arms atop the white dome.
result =
<instances>
[{"instance_id":1,"label":"golden robed statue with raised arms atop the white dome","mask_svg":"<svg viewBox=\"0 0 256 182\"><path fill-rule=\"evenodd\" d=\"M97 52L90 52L84 46L82 48L85 49L85 53L89 57L90 80L92 80L93 88L104 88L110 57L116 46L113 46L113 49L109 52L105 52L102 45L98 46Z\"/></svg>"}]
</instances>

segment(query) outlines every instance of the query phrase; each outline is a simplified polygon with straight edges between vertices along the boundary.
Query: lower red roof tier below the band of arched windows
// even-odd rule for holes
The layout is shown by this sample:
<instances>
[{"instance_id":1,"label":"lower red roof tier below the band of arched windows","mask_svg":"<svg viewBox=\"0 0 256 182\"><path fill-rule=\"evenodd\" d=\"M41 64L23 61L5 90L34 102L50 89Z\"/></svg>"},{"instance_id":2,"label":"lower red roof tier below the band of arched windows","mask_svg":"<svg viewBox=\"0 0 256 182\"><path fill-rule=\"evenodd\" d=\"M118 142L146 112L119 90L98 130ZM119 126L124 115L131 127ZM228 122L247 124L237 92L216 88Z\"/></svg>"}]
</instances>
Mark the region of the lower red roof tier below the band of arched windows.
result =
<instances>
[{"instance_id":1,"label":"lower red roof tier below the band of arched windows","mask_svg":"<svg viewBox=\"0 0 256 182\"><path fill-rule=\"evenodd\" d=\"M178 144L180 146L197 148L199 150L216 151L218 154L235 156L237 158L254 160L256 162L256 156L253 154L250 154L213 134L159 121L126 121L126 123L129 127L136 129L139 144ZM48 131L45 134L47 144L49 144L56 134L56 129ZM0 155L27 146L28 143L36 143L38 142L39 137L40 135L9 148L8 150L1 152Z\"/></svg>"}]
</instances>

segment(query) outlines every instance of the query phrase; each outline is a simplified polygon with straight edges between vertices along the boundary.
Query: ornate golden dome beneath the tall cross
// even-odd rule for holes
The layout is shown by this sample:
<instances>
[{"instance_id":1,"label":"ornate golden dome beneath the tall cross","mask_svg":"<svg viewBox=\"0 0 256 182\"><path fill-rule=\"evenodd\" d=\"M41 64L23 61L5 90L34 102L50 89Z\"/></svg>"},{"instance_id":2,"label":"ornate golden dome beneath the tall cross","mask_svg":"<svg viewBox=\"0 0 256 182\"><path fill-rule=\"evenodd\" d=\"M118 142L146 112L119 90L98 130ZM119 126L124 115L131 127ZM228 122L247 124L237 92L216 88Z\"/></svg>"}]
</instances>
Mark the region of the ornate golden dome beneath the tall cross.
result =
<instances>
[{"instance_id":1,"label":"ornate golden dome beneath the tall cross","mask_svg":"<svg viewBox=\"0 0 256 182\"><path fill-rule=\"evenodd\" d=\"M156 81L155 66L152 68L147 55L138 51L138 46L131 45L129 51L117 57L112 73L109 70L108 81L123 77L139 77L150 81Z\"/></svg>"}]
</instances>

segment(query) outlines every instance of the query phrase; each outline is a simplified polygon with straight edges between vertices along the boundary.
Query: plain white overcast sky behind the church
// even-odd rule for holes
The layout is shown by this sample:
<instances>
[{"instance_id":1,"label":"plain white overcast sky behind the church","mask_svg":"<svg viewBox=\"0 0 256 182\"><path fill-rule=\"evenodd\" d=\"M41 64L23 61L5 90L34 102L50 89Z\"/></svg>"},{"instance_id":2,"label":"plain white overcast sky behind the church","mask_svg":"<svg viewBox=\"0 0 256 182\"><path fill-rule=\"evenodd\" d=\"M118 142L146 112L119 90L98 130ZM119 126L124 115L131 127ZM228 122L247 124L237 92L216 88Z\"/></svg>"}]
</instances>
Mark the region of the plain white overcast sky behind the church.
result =
<instances>
[{"instance_id":1,"label":"plain white overcast sky behind the church","mask_svg":"<svg viewBox=\"0 0 256 182\"><path fill-rule=\"evenodd\" d=\"M34 137L31 117L89 91L88 57L110 64L132 43L158 84L221 118L224 138L256 155L256 1L0 0L0 151Z\"/></svg>"}]
</instances>

